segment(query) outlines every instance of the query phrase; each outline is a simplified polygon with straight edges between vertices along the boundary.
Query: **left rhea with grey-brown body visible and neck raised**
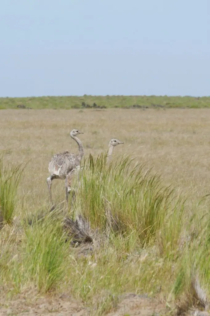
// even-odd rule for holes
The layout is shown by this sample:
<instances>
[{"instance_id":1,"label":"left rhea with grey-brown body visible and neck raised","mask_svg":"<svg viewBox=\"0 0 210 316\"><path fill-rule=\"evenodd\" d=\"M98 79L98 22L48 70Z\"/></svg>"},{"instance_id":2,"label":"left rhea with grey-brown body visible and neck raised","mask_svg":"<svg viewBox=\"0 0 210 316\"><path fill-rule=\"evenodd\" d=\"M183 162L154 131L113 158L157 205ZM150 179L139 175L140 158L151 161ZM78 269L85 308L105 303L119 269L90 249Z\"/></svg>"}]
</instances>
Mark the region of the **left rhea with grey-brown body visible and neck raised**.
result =
<instances>
[{"instance_id":1,"label":"left rhea with grey-brown body visible and neck raised","mask_svg":"<svg viewBox=\"0 0 210 316\"><path fill-rule=\"evenodd\" d=\"M67 174L69 174L73 169L75 169L76 167L80 165L80 161L82 157L84 156L83 144L79 140L79 138L76 137L78 134L83 134L83 132L73 129L70 133L70 136L78 143L78 146L79 146L78 155L65 151L63 153L54 155L49 162L48 170L50 172L50 176L47 178L47 185L48 185L51 203L52 203L52 192L51 192L52 180L66 179Z\"/></svg>"}]
</instances>

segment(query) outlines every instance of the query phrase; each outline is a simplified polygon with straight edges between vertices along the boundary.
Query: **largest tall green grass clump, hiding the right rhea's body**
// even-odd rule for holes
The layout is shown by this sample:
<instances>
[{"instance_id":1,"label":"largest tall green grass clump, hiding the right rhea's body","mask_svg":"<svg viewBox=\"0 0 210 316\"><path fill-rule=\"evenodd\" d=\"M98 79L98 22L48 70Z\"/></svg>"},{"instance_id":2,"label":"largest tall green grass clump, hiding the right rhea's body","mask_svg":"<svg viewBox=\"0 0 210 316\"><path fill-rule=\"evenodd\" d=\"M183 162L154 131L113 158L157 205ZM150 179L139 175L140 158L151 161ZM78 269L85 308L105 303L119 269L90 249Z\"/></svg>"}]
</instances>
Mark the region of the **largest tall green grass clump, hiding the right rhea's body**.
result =
<instances>
[{"instance_id":1,"label":"largest tall green grass clump, hiding the right rhea's body","mask_svg":"<svg viewBox=\"0 0 210 316\"><path fill-rule=\"evenodd\" d=\"M160 176L143 164L134 164L129 156L108 164L106 154L90 155L84 162L75 216L81 214L92 228L110 236L135 236L141 246L159 240L162 248L170 242L176 247L183 226L183 202L175 201L173 193L170 186L163 186Z\"/></svg>"}]
</instances>

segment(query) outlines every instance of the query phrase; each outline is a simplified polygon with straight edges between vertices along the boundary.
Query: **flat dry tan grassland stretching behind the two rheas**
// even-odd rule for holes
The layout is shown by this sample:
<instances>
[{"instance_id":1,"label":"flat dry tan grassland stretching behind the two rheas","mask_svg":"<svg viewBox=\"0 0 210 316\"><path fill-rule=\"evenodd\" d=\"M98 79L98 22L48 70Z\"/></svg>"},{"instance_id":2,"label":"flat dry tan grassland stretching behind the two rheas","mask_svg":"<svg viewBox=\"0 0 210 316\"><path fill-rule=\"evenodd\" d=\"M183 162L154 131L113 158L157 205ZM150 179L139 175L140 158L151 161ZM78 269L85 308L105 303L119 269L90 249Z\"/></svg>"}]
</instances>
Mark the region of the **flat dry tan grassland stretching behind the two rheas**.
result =
<instances>
[{"instance_id":1,"label":"flat dry tan grassland stretching behind the two rheas","mask_svg":"<svg viewBox=\"0 0 210 316\"><path fill-rule=\"evenodd\" d=\"M81 135L85 156L108 149L112 137L124 141L114 148L118 155L134 155L161 174L179 191L191 190L193 200L210 188L210 112L208 109L168 110L3 110L0 112L1 152L5 161L28 162L21 192L26 208L48 200L48 161L54 153L78 151L69 136L73 128ZM54 180L54 196L65 198L63 182Z\"/></svg>"}]
</instances>

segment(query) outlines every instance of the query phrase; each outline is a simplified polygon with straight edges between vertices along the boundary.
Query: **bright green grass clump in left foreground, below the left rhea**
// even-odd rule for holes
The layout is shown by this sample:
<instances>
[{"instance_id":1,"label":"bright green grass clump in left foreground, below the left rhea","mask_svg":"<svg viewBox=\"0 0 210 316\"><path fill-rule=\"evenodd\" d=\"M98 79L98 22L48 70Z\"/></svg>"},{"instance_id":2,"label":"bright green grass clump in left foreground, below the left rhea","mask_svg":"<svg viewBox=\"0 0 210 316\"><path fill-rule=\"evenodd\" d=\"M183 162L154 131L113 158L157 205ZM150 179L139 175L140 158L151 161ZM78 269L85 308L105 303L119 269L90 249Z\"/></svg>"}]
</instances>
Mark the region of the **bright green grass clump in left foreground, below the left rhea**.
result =
<instances>
[{"instance_id":1,"label":"bright green grass clump in left foreground, below the left rhea","mask_svg":"<svg viewBox=\"0 0 210 316\"><path fill-rule=\"evenodd\" d=\"M11 266L17 289L32 287L46 293L63 279L69 243L61 224L60 216L49 214L26 228L19 260Z\"/></svg>"}]
</instances>

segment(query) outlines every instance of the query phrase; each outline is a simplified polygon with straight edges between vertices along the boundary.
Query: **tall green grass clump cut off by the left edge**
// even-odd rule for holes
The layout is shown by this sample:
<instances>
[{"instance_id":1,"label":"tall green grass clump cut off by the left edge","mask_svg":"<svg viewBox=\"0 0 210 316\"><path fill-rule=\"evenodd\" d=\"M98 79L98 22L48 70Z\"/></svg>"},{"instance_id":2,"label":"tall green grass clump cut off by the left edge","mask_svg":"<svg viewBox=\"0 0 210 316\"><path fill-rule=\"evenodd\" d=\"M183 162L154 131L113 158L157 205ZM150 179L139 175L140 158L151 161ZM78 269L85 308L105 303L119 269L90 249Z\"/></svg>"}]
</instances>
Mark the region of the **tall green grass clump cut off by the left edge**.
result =
<instances>
[{"instance_id":1,"label":"tall green grass clump cut off by the left edge","mask_svg":"<svg viewBox=\"0 0 210 316\"><path fill-rule=\"evenodd\" d=\"M3 222L11 223L15 208L17 206L18 186L22 170L21 164L5 166L3 155L0 157L0 225Z\"/></svg>"}]
</instances>

